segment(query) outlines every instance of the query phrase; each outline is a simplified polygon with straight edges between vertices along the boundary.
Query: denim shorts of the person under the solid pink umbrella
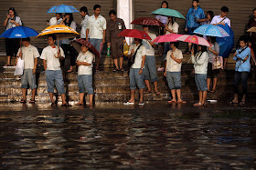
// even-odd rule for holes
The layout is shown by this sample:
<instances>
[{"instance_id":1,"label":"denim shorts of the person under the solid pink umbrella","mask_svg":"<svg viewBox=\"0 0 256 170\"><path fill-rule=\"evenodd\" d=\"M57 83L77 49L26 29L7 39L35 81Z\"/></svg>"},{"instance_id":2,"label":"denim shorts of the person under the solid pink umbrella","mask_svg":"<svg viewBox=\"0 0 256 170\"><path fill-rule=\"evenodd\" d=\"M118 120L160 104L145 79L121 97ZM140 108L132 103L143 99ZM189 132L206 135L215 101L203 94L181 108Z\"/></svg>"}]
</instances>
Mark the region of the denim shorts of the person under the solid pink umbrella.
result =
<instances>
[{"instance_id":1,"label":"denim shorts of the person under the solid pink umbrella","mask_svg":"<svg viewBox=\"0 0 256 170\"><path fill-rule=\"evenodd\" d=\"M170 90L181 89L181 72L166 72L166 79Z\"/></svg>"}]
</instances>

